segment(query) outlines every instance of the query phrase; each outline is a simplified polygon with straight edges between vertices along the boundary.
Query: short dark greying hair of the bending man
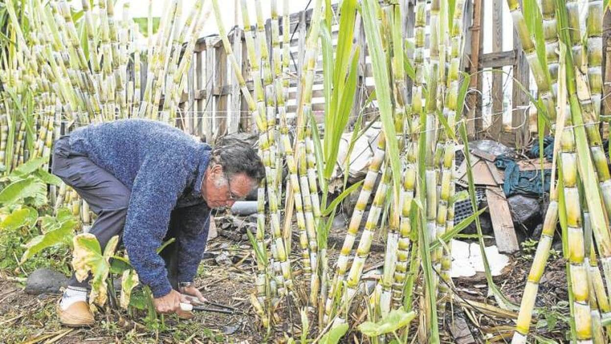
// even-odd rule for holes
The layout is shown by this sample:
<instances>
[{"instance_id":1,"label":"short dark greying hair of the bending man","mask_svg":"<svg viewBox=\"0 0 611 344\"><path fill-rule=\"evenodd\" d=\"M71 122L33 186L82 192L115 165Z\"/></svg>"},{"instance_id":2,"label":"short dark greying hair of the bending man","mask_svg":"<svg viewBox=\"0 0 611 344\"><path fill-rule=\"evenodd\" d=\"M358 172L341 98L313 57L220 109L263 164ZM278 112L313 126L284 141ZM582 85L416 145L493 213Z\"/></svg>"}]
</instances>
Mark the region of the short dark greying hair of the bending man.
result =
<instances>
[{"instance_id":1,"label":"short dark greying hair of the bending man","mask_svg":"<svg viewBox=\"0 0 611 344\"><path fill-rule=\"evenodd\" d=\"M251 144L240 138L226 137L212 150L212 159L221 165L229 178L244 173L257 184L265 178L265 167Z\"/></svg>"}]
</instances>

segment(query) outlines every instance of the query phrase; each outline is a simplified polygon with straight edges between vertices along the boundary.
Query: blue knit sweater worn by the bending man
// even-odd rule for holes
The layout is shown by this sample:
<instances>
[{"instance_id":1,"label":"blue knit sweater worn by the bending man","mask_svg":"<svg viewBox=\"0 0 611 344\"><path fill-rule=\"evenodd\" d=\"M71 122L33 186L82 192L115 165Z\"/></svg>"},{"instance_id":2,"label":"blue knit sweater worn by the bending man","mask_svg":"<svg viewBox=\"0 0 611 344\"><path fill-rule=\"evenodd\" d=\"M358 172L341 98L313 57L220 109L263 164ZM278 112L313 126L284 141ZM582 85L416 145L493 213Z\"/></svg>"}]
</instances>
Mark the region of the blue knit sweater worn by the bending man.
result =
<instances>
[{"instance_id":1,"label":"blue knit sweater worn by the bending man","mask_svg":"<svg viewBox=\"0 0 611 344\"><path fill-rule=\"evenodd\" d=\"M205 249L210 208L202 198L210 146L161 122L125 119L82 127L71 149L86 154L131 190L123 243L142 283L153 296L172 290L156 253L178 217L178 281L192 281ZM178 216L176 216L178 215Z\"/></svg>"}]
</instances>

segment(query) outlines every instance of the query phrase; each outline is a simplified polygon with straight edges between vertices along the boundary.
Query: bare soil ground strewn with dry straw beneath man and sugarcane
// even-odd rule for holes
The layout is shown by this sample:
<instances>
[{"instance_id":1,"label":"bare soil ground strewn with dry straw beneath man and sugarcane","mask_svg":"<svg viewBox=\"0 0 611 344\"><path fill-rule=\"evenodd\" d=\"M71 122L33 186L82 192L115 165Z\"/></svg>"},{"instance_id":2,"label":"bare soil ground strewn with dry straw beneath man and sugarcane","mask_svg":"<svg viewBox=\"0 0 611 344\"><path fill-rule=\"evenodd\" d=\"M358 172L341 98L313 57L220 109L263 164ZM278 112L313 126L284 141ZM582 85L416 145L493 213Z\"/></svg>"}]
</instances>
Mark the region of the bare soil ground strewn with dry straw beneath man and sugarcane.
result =
<instances>
[{"instance_id":1,"label":"bare soil ground strewn with dry straw beneath man and sugarcane","mask_svg":"<svg viewBox=\"0 0 611 344\"><path fill-rule=\"evenodd\" d=\"M228 252L233 264L219 266L214 256ZM97 323L90 328L70 329L57 320L55 307L59 295L32 296L24 293L23 285L0 275L0 343L260 343L262 328L248 300L252 291L255 263L247 242L229 241L218 237L208 245L210 258L202 261L197 285L209 301L233 310L232 314L196 312L191 320L178 320L166 316L164 323L147 324L144 314L131 317L125 312L107 309L97 313ZM336 250L331 250L334 261ZM295 256L294 260L298 260ZM367 269L382 263L381 253L373 252ZM531 259L519 254L511 257L511 263L494 281L510 302L519 305L522 290L530 268ZM295 261L295 266L298 263ZM296 274L299 274L296 270ZM373 277L375 279L375 277ZM455 279L455 299L448 305L442 338L446 343L505 343L513 334L515 312L503 312L496 307L493 297L486 293L488 287L483 274L468 279ZM416 302L420 290L416 291ZM563 322L568 306L565 263L552 257L541 283L537 306L543 311L533 332L546 338L562 340L567 324ZM487 308L486 305L492 307ZM353 313L355 318L362 314ZM279 310L282 323L276 326L271 337L281 342L285 332L299 330L297 309ZM136 321L134 321L136 320ZM290 324L293 326L290 326ZM416 323L415 321L413 323ZM535 324L533 323L533 326ZM417 331L414 327L413 331ZM411 332L416 333L416 332ZM470 336L469 336L470 335ZM310 336L310 338L312 338ZM357 332L346 336L346 342L362 342ZM365 340L366 342L366 340ZM417 342L417 340L416 340Z\"/></svg>"}]
</instances>

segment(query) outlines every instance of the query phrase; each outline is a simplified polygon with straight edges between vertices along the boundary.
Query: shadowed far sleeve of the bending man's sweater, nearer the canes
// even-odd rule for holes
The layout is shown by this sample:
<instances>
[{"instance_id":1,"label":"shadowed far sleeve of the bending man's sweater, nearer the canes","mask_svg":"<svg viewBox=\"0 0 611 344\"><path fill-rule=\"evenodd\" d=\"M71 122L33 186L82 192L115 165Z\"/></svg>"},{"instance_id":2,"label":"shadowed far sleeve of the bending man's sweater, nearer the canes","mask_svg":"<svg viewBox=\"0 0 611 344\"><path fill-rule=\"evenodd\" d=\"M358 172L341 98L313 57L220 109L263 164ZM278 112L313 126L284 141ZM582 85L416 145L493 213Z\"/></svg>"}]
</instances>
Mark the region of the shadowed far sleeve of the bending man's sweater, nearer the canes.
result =
<instances>
[{"instance_id":1,"label":"shadowed far sleeve of the bending man's sweater, nearer the canes","mask_svg":"<svg viewBox=\"0 0 611 344\"><path fill-rule=\"evenodd\" d=\"M210 228L210 208L205 203L180 209L178 281L192 282L202 260Z\"/></svg>"}]
</instances>

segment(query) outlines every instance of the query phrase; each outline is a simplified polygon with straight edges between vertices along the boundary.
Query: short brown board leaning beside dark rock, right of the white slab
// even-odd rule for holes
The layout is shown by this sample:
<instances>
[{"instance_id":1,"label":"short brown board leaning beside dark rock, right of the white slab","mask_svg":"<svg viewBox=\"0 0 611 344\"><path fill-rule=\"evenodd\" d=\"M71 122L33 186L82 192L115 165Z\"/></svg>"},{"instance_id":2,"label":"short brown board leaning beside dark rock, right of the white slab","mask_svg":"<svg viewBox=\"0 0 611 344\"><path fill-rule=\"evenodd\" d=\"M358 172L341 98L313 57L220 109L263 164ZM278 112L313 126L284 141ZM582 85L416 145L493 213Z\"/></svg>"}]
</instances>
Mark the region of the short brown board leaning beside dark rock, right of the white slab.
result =
<instances>
[{"instance_id":1,"label":"short brown board leaning beside dark rock, right of the white slab","mask_svg":"<svg viewBox=\"0 0 611 344\"><path fill-rule=\"evenodd\" d=\"M505 193L499 186L486 187L488 211L492 220L492 230L497 247L501 253L513 253L519 250L518 237L513 227L513 219Z\"/></svg>"}]
</instances>

